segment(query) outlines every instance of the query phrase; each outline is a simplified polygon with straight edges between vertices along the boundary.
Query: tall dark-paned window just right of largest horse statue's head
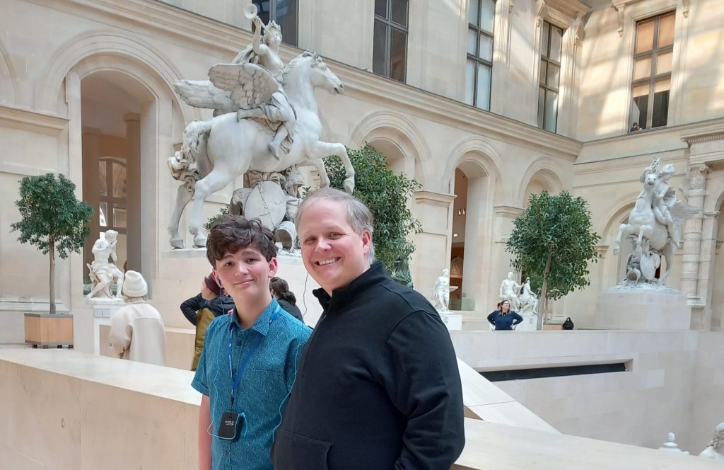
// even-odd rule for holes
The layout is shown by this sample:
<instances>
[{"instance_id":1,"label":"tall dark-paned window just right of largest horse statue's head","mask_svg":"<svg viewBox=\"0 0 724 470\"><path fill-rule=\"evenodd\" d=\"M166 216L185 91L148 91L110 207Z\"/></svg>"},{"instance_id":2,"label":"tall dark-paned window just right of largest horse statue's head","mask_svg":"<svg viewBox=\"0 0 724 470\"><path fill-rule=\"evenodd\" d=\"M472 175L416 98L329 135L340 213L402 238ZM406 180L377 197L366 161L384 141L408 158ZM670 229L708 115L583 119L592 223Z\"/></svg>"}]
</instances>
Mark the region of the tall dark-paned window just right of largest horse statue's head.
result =
<instances>
[{"instance_id":1,"label":"tall dark-paned window just right of largest horse statue's head","mask_svg":"<svg viewBox=\"0 0 724 470\"><path fill-rule=\"evenodd\" d=\"M374 0L374 73L405 81L407 35L408 0Z\"/></svg>"}]
</instances>

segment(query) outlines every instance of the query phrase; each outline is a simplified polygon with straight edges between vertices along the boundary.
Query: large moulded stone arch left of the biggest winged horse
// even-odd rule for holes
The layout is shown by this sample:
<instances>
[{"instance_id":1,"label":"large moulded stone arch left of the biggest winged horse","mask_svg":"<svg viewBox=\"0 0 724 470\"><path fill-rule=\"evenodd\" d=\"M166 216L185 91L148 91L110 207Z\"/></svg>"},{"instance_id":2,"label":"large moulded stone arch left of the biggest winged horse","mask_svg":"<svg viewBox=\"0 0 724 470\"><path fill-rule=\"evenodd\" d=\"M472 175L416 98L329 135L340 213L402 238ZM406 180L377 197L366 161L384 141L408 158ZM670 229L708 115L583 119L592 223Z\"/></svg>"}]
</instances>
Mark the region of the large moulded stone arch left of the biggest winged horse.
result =
<instances>
[{"instance_id":1,"label":"large moulded stone arch left of the biggest winged horse","mask_svg":"<svg viewBox=\"0 0 724 470\"><path fill-rule=\"evenodd\" d=\"M59 87L70 70L84 59L98 56L116 59L118 62L116 67L112 63L108 63L106 66L127 73L127 75L133 76L133 73L123 67L133 65L135 75L138 75L135 78L141 83L148 86L148 77L153 77L153 81L159 85L162 84L163 88L166 88L172 96L174 81L182 78L180 71L169 59L164 57L160 51L151 49L141 38L117 31L89 31L59 46L54 56L48 61L46 70L41 75L42 79L38 81L35 88L35 107L39 110L55 112ZM108 62L114 61L109 60ZM145 78L141 78L144 75ZM156 90L154 94L159 96L159 90ZM174 101L179 105L186 122L200 117L197 110L188 104L179 102L175 97Z\"/></svg>"}]
</instances>

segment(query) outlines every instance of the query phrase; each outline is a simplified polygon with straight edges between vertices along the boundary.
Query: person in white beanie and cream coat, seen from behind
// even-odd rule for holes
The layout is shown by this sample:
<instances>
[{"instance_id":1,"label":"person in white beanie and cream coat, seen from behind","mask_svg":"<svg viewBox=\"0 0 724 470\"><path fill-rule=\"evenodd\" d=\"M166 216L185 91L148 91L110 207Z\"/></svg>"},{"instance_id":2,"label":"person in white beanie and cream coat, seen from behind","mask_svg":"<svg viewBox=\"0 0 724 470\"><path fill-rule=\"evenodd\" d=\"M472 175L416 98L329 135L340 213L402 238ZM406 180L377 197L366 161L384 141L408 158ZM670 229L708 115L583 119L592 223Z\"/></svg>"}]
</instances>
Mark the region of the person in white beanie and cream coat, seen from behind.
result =
<instances>
[{"instance_id":1,"label":"person in white beanie and cream coat, seen from behind","mask_svg":"<svg viewBox=\"0 0 724 470\"><path fill-rule=\"evenodd\" d=\"M111 317L111 348L122 359L158 366L166 364L166 332L159 310L148 304L148 284L140 273L127 271L123 282L126 302Z\"/></svg>"}]
</instances>

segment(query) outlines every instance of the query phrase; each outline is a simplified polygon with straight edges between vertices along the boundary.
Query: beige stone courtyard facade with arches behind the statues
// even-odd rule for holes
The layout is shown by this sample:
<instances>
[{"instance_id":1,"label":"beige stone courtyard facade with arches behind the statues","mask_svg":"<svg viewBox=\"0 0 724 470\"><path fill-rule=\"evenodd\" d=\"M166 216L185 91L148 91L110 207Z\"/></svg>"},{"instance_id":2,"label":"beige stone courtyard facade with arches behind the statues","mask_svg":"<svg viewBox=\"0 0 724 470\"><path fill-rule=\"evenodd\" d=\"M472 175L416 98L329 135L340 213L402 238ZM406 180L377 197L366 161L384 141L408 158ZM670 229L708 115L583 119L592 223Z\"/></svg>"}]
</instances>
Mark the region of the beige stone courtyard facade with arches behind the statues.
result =
<instances>
[{"instance_id":1,"label":"beige stone courtyard facade with arches behind the statues","mask_svg":"<svg viewBox=\"0 0 724 470\"><path fill-rule=\"evenodd\" d=\"M687 223L670 285L689 295L696 328L723 328L724 287L714 274L724 273L717 263L724 195L724 167L717 163L724 159L724 53L717 45L724 5L497 0L491 112L485 112L464 103L471 1L409 2L406 83L370 71L372 0L292 2L299 49L282 46L285 60L300 49L318 51L345 83L345 96L317 96L324 138L349 147L369 142L392 168L422 184L411 202L423 227L411 264L416 288L429 294L434 273L460 256L463 276L453 279L461 286L459 308L469 310L468 317L489 312L510 270L505 242L511 222L529 194L572 189L589 201L603 258L592 265L588 289L553 305L577 326L592 326L597 294L618 281L621 269L611 253L613 236L639 192L641 168L660 156L677 166L675 186L688 187L690 202L702 207ZM167 325L188 326L177 305L195 292L207 268L198 252L169 247L165 227L177 182L166 160L185 123L209 114L180 102L172 83L205 78L209 66L229 61L251 41L243 18L248 3L7 0L8 14L0 18L0 139L6 149L0 225L18 218L13 201L20 178L67 174L79 197L106 204L106 226L118 203L122 261L150 280ZM675 12L668 123L627 133L636 22L662 12ZM542 28L548 24L562 31L557 133L536 125ZM101 163L111 175L105 196L99 193ZM107 194L113 181L125 193ZM204 218L233 189L211 197ZM92 226L95 234L101 231L98 211ZM22 311L42 310L48 298L45 257L16 239L7 229L0 234L0 313L10 326L0 337L5 340L22 332ZM84 265L83 255L58 264L57 292L79 320L92 317L83 297ZM77 342L88 350L83 338L93 337L93 326L76 323Z\"/></svg>"}]
</instances>

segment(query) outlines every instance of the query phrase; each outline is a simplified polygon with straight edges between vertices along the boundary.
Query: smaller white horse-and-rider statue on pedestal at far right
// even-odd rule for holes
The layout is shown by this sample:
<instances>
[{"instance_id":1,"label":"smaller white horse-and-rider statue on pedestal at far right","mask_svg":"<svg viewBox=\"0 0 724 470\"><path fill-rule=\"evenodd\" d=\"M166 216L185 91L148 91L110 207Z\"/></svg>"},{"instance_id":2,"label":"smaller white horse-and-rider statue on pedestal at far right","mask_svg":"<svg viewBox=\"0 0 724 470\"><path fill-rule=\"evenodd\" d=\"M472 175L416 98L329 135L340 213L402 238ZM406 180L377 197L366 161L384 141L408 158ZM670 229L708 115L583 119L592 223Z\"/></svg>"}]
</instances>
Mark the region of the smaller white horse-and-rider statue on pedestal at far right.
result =
<instances>
[{"instance_id":1,"label":"smaller white horse-and-rider statue on pedestal at far right","mask_svg":"<svg viewBox=\"0 0 724 470\"><path fill-rule=\"evenodd\" d=\"M699 210L675 197L675 190L668 180L675 173L673 165L659 169L661 160L654 158L641 173L639 181L644 189L636 199L628 223L622 223L613 244L613 254L618 255L623 239L631 239L633 252L628 257L626 279L620 286L662 286L671 273L673 253L681 239L679 227L684 220ZM656 270L666 260L666 271L656 279Z\"/></svg>"}]
</instances>

